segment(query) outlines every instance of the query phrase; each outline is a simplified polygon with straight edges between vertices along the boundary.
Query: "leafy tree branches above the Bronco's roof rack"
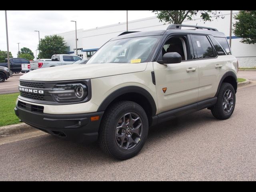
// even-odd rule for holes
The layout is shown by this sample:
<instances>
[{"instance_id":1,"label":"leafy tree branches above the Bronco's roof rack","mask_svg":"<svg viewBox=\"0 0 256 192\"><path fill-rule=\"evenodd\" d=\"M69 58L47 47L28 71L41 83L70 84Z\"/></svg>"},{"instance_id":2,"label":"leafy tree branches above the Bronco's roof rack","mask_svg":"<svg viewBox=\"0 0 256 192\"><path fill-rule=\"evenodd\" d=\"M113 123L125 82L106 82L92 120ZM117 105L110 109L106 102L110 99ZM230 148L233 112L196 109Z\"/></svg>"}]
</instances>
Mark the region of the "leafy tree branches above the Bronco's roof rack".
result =
<instances>
[{"instance_id":1,"label":"leafy tree branches above the Bronco's roof rack","mask_svg":"<svg viewBox=\"0 0 256 192\"><path fill-rule=\"evenodd\" d=\"M196 16L198 13L200 14L200 17L204 22L206 21L212 21L212 17L222 19L224 16L222 16L220 11L204 11L204 10L152 10L153 13L157 15L157 18L160 20L160 22L168 22L168 24L182 24L182 22L187 20L193 20L192 16ZM221 16L220 16L221 14Z\"/></svg>"}]
</instances>

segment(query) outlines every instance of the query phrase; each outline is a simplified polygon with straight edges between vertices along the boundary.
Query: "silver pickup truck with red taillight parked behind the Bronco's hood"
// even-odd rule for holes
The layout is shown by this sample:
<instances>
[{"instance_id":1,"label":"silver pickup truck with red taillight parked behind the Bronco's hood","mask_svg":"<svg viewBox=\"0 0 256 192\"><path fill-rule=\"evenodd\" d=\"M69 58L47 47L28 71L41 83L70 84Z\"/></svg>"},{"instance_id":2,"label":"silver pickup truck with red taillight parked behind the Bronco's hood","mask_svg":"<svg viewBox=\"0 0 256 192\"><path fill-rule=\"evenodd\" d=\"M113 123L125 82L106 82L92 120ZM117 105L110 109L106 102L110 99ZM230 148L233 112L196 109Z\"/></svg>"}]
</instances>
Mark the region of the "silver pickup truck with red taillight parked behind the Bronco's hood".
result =
<instances>
[{"instance_id":1,"label":"silver pickup truck with red taillight parked behind the Bronco's hood","mask_svg":"<svg viewBox=\"0 0 256 192\"><path fill-rule=\"evenodd\" d=\"M78 60L82 60L79 56L70 55L70 54L57 54L53 55L51 61L31 61L30 68L31 70L54 67L61 65L72 64Z\"/></svg>"}]
</instances>

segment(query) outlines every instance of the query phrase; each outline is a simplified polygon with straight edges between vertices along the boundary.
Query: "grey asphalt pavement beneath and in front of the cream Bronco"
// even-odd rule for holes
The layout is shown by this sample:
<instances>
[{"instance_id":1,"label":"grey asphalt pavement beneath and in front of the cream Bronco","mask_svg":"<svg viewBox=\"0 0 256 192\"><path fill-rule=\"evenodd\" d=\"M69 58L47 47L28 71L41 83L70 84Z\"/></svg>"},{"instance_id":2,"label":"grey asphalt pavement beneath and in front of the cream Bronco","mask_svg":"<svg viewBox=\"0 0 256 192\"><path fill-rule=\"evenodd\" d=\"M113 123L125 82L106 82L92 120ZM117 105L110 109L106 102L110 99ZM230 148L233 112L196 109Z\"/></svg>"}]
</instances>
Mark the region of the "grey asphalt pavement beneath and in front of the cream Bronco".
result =
<instances>
[{"instance_id":1,"label":"grey asphalt pavement beneath and in front of the cream Bronco","mask_svg":"<svg viewBox=\"0 0 256 192\"><path fill-rule=\"evenodd\" d=\"M2 137L0 180L256 180L255 95L240 87L228 120L205 109L152 127L125 161L40 131Z\"/></svg>"}]
</instances>

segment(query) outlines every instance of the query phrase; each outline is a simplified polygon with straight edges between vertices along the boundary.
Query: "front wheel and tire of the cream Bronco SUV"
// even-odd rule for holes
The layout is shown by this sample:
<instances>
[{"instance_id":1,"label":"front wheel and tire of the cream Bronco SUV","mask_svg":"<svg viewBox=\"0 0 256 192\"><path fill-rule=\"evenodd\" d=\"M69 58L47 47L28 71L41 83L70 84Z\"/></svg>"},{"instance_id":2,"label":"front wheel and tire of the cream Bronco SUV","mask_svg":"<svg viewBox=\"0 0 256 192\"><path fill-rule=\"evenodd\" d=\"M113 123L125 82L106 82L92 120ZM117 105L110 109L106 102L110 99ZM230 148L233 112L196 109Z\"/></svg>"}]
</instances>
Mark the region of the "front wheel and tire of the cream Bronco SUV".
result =
<instances>
[{"instance_id":1,"label":"front wheel and tire of the cream Bronco SUV","mask_svg":"<svg viewBox=\"0 0 256 192\"><path fill-rule=\"evenodd\" d=\"M105 153L125 160L140 152L147 137L148 117L144 109L135 102L120 101L106 110L98 141Z\"/></svg>"}]
</instances>

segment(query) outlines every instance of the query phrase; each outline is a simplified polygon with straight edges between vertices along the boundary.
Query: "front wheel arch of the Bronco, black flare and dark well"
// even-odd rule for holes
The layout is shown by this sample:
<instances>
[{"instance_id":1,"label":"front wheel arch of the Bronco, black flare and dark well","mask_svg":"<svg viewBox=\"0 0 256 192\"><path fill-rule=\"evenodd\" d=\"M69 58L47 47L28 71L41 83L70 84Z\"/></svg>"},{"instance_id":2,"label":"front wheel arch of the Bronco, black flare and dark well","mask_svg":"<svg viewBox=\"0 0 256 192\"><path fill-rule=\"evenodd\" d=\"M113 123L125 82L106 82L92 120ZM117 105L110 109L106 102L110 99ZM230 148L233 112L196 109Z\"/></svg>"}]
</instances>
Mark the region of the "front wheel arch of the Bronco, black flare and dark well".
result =
<instances>
[{"instance_id":1,"label":"front wheel arch of the Bronco, black flare and dark well","mask_svg":"<svg viewBox=\"0 0 256 192\"><path fill-rule=\"evenodd\" d=\"M142 106L148 116L149 123L152 122L152 116L156 115L154 98L147 90L139 86L126 86L112 92L100 104L97 111L104 111L108 106L120 100L133 101Z\"/></svg>"}]
</instances>

